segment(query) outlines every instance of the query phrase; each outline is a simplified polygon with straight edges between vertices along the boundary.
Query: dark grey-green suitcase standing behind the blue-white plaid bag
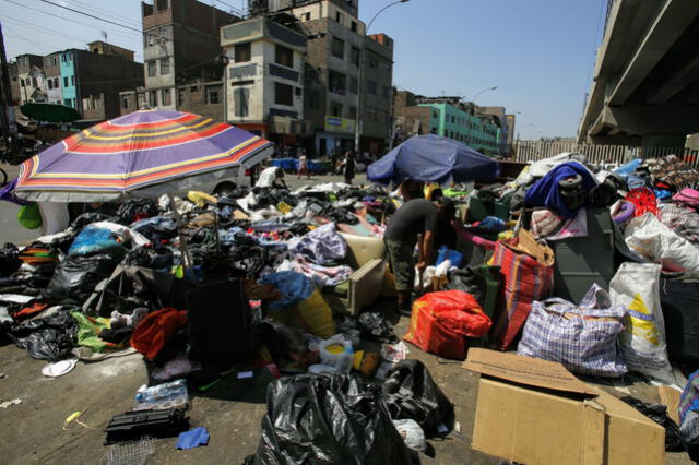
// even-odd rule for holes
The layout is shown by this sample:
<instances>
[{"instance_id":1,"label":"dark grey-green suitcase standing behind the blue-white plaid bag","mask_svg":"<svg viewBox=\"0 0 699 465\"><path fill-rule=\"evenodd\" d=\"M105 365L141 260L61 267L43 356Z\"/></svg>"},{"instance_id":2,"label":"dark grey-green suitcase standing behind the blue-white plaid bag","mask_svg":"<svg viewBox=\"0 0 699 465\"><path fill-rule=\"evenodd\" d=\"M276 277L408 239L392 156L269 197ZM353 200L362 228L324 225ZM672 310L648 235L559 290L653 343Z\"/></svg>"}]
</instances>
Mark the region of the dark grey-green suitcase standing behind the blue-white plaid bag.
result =
<instances>
[{"instance_id":1,"label":"dark grey-green suitcase standing behind the blue-white plaid bag","mask_svg":"<svg viewBox=\"0 0 699 465\"><path fill-rule=\"evenodd\" d=\"M556 255L554 296L580 303L596 283L609 288L614 277L614 228L608 208L588 208L588 236L552 240Z\"/></svg>"}]
</instances>

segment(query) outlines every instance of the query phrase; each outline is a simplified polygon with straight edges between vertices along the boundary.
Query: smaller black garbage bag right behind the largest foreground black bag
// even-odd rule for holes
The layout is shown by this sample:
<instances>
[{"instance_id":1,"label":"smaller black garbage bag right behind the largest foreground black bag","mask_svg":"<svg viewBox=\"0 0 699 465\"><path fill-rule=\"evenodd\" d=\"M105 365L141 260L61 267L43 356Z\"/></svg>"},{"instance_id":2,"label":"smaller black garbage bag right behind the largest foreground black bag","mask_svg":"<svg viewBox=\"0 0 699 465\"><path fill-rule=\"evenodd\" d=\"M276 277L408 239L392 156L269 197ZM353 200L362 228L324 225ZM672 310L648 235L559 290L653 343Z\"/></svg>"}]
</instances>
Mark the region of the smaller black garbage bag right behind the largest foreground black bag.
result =
<instances>
[{"instance_id":1,"label":"smaller black garbage bag right behind the largest foreground black bag","mask_svg":"<svg viewBox=\"0 0 699 465\"><path fill-rule=\"evenodd\" d=\"M442 424L451 429L454 406L419 360L401 360L387 372L383 400L391 419L413 419L425 434L436 433Z\"/></svg>"}]
</instances>

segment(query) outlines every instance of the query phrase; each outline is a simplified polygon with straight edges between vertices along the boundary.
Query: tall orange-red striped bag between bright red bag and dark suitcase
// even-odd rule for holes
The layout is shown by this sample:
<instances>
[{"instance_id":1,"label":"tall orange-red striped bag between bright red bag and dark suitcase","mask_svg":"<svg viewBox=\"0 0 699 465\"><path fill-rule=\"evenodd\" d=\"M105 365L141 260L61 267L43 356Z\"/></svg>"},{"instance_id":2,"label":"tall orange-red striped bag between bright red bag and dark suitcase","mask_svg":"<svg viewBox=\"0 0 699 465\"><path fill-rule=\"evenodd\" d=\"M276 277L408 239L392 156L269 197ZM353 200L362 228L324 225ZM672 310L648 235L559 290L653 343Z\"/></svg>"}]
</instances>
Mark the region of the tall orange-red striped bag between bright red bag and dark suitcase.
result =
<instances>
[{"instance_id":1,"label":"tall orange-red striped bag between bright red bag and dark suitcase","mask_svg":"<svg viewBox=\"0 0 699 465\"><path fill-rule=\"evenodd\" d=\"M490 339L507 350L526 321L532 302L548 297L554 286L554 265L540 263L532 255L513 248L512 241L498 241L493 266L505 276L506 314L494 315Z\"/></svg>"}]
</instances>

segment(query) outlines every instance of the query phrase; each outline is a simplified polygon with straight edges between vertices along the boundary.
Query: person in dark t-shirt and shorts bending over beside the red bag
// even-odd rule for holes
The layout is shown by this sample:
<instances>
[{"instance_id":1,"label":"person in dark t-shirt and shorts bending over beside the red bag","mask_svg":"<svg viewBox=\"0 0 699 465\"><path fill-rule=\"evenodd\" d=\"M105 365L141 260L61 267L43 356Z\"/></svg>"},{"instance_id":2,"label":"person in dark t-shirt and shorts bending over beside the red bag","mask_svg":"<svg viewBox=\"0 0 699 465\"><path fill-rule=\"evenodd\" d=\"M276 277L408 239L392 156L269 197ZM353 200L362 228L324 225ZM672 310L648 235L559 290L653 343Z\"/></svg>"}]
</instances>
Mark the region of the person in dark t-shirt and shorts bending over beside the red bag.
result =
<instances>
[{"instance_id":1,"label":"person in dark t-shirt and shorts bending over beside the red bag","mask_svg":"<svg viewBox=\"0 0 699 465\"><path fill-rule=\"evenodd\" d=\"M417 271L422 275L430 261L439 216L437 206L423 198L423 189L424 184L419 181L406 180L401 183L399 192L405 203L395 212L383 235L391 271L395 276L398 308L403 314L411 313L411 297L415 287L415 245L418 246Z\"/></svg>"}]
</instances>

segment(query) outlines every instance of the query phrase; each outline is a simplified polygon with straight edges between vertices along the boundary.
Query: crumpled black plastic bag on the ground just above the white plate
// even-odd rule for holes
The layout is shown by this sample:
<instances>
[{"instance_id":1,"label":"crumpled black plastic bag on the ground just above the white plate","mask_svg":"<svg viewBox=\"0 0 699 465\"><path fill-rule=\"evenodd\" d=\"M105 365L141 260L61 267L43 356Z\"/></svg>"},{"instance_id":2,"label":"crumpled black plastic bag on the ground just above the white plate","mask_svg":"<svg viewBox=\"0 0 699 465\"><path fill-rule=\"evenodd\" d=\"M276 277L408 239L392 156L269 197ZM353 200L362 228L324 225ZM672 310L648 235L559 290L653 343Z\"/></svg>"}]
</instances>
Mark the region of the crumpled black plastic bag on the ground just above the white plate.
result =
<instances>
[{"instance_id":1,"label":"crumpled black plastic bag on the ground just above the white plate","mask_svg":"<svg viewBox=\"0 0 699 465\"><path fill-rule=\"evenodd\" d=\"M32 358L62 360L70 356L75 344L78 324L70 315L71 310L64 308L48 317L15 324L8 336L17 347L26 349Z\"/></svg>"}]
</instances>

